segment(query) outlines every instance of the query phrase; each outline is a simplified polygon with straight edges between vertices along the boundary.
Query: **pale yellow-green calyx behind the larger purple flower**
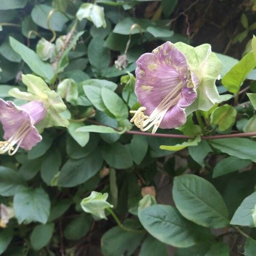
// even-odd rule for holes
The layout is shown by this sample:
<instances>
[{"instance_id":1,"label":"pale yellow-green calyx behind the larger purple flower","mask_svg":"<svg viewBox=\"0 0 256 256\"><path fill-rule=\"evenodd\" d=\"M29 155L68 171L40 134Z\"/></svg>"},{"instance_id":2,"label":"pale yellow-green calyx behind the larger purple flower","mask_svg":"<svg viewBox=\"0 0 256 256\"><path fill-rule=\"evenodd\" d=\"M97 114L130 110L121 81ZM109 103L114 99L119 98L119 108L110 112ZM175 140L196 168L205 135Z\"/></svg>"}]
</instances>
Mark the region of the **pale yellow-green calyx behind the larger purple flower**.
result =
<instances>
[{"instance_id":1,"label":"pale yellow-green calyx behind the larger purple flower","mask_svg":"<svg viewBox=\"0 0 256 256\"><path fill-rule=\"evenodd\" d=\"M221 73L221 61L211 51L209 44L192 47L178 42L174 45L186 56L191 71L199 79L196 89L198 97L186 108L186 114L198 109L209 110L220 99L215 81Z\"/></svg>"}]
</instances>

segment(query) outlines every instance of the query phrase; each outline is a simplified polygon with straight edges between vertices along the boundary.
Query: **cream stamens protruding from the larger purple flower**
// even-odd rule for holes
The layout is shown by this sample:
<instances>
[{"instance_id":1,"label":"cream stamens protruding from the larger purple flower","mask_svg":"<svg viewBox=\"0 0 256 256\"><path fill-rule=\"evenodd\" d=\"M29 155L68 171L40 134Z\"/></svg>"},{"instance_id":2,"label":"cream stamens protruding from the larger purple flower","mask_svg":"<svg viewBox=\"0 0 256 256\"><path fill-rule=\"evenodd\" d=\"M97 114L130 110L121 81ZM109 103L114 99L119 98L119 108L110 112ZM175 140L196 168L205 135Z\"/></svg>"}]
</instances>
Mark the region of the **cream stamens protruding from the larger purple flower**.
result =
<instances>
[{"instance_id":1,"label":"cream stamens protruding from the larger purple flower","mask_svg":"<svg viewBox=\"0 0 256 256\"><path fill-rule=\"evenodd\" d=\"M154 134L169 108L174 106L180 99L180 89L182 86L183 83L180 82L174 89L172 89L157 105L150 116L144 115L145 107L140 107L137 111L130 111L130 113L134 114L130 122L134 122L141 131L147 131L154 126L152 130L152 134Z\"/></svg>"}]
</instances>

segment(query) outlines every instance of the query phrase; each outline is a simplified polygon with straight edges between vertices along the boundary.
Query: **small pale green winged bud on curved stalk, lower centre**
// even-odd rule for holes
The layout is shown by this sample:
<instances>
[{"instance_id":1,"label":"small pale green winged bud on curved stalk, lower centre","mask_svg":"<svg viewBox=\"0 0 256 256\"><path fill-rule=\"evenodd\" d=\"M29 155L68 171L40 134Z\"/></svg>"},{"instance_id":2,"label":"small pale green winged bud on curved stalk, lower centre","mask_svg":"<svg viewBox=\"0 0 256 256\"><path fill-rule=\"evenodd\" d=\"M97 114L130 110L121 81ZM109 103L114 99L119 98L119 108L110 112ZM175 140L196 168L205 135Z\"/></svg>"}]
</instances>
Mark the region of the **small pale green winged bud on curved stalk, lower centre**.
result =
<instances>
[{"instance_id":1,"label":"small pale green winged bud on curved stalk, lower centre","mask_svg":"<svg viewBox=\"0 0 256 256\"><path fill-rule=\"evenodd\" d=\"M90 196L81 201L81 207L84 212L90 213L96 220L107 219L105 215L106 208L113 208L112 204L107 202L108 193L99 193L92 191Z\"/></svg>"}]
</instances>

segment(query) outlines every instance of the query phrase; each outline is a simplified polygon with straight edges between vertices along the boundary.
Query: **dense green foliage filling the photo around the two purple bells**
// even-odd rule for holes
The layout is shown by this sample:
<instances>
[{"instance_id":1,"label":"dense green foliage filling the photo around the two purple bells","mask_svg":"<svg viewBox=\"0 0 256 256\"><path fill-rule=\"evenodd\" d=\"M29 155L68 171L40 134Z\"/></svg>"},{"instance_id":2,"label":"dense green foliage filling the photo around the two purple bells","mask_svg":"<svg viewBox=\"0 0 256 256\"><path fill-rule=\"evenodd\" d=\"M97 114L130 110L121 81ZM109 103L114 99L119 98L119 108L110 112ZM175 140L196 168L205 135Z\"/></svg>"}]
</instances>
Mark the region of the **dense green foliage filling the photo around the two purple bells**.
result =
<instances>
[{"instance_id":1,"label":"dense green foliage filling the photo around the two purple bells","mask_svg":"<svg viewBox=\"0 0 256 256\"><path fill-rule=\"evenodd\" d=\"M41 142L15 156L2 154L0 125L0 254L167 256L172 245L175 256L255 256L255 36L243 48L254 12L242 6L242 30L212 40L222 24L209 12L225 1L206 8L210 32L191 17L207 3L183 2L0 0L0 98L47 111L30 120ZM212 46L197 45L202 35ZM166 41L198 96L183 125L143 134L130 122L142 103L135 62ZM169 70L147 81L172 84Z\"/></svg>"}]
</instances>

